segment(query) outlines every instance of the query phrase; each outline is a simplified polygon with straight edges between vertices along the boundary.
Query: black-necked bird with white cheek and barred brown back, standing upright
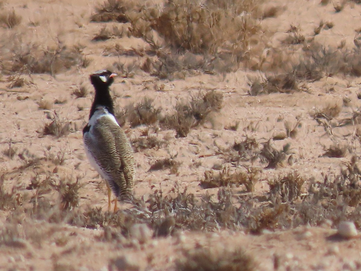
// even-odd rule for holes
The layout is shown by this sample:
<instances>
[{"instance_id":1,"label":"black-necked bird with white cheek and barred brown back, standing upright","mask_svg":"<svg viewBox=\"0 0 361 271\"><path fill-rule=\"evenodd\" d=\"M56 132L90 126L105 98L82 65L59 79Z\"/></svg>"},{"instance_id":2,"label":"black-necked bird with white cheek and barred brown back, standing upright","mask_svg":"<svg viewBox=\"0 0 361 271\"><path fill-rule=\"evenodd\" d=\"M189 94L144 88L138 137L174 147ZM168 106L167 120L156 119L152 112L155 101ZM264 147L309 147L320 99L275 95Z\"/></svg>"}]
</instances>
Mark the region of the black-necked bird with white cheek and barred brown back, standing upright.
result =
<instances>
[{"instance_id":1,"label":"black-necked bird with white cheek and barred brown back, standing upright","mask_svg":"<svg viewBox=\"0 0 361 271\"><path fill-rule=\"evenodd\" d=\"M83 129L83 143L87 158L93 168L106 181L108 187L108 211L111 210L111 193L117 201L132 198L135 178L134 151L123 129L114 115L113 100L109 86L116 73L99 70L90 75L95 89L89 121Z\"/></svg>"}]
</instances>

